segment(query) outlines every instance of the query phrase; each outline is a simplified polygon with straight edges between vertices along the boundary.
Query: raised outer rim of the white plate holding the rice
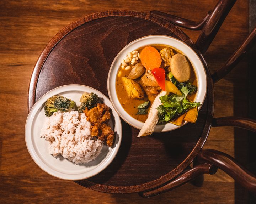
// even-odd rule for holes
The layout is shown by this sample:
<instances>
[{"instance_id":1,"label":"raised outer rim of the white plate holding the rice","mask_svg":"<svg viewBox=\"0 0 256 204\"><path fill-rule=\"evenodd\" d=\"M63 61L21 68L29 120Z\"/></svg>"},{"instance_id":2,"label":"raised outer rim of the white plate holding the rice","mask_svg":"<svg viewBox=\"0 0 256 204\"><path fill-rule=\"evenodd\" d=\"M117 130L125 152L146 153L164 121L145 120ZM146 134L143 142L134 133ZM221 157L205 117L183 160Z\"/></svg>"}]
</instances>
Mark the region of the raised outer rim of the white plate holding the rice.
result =
<instances>
[{"instance_id":1,"label":"raised outer rim of the white plate holding the rice","mask_svg":"<svg viewBox=\"0 0 256 204\"><path fill-rule=\"evenodd\" d=\"M34 108L36 108L37 106L39 106L38 104L39 104L40 100L41 100L44 96L46 96L47 94L49 94L50 92L52 92L52 91L54 91L54 90L56 90L56 89L62 89L63 87L67 87L67 86L86 87L86 88L88 88L88 89L91 89L92 91L99 92L99 93L104 97L104 99L107 99L107 100L110 102L111 106L113 106L112 102L110 101L110 99L109 99L105 94L103 94L101 91L98 91L97 89L94 89L94 88L92 88L92 87L90 87L90 86L81 85L81 84L67 84L67 85L55 87L54 89L49 90L49 91L46 92L44 95L42 95L42 96L34 103L33 107L31 108L30 112L28 113L28 116L27 116L27 119L26 119L24 137L25 137L25 143L26 143L26 147L27 147L28 153L30 154L30 157L33 159L34 163L36 163L37 166L38 166L40 169L42 169L42 170L43 170L44 172L46 172L47 174L49 174L49 175L51 175L51 176L54 176L54 177L56 177L56 178L58 178L58 179L71 180L71 181L78 181L78 180L88 179L88 178L90 178L90 177L92 177L92 176L95 176L95 175L99 174L101 171L103 171L104 169L106 169L108 165L111 164L111 162L112 162L112 161L114 160L114 158L116 157L116 155L117 155L117 153L118 153L118 151L119 151L119 148L120 148L120 146L121 146L121 141L122 141L122 123L121 123L121 119L120 119L118 113L116 112L116 110L114 109L114 107L111 108L111 109L112 109L112 112L115 111L115 112L116 112L116 115L117 115L117 121L116 121L116 118L115 118L115 124L119 123L119 127L120 127L120 128L119 128L119 132L118 132L118 133L119 133L119 134L118 134L118 137L119 137L119 138L118 138L118 142L116 143L116 146L114 147L115 149L114 149L112 155L110 154L111 157L109 156L108 158L105 159L105 161L104 161L101 165L99 165L99 166L96 167L96 169L97 169L97 168L99 169L99 171L97 171L96 173L91 174L90 176L82 176L82 177L80 176L80 177L73 177L73 178L72 178L73 175L84 175L84 173L80 173L80 174L66 174L66 173L63 173L63 172L58 172L58 174L69 175L69 178L65 178L65 177L63 177L63 176L55 175L55 174L53 174L52 172L49 172L49 171L47 171L46 169L44 169L40 164L38 164L38 161L40 161L41 159L39 159L40 157L38 157L38 155L36 154L35 148L32 146L32 149L31 149L31 148L29 148L29 146L28 146L28 141L27 141L28 139L31 139L31 144L33 143L33 142L32 142L32 137L31 137L31 131L29 131L30 133L27 132L27 131L30 130L30 128L32 127L32 126L28 126L29 119L31 119L31 125L32 125L32 123L33 123L33 118L31 118L31 117L33 116L33 112L37 112L37 109L34 110ZM31 115L31 114L32 114L32 115ZM35 114L36 114L36 113L35 113ZM27 134L28 134L28 136L27 136ZM27 138L27 137L28 137L28 138ZM42 162L42 161L41 161L41 162ZM45 165L47 165L47 164L45 164ZM75 164L74 164L74 165L75 165ZM47 166L48 166L48 165L47 165ZM100 168L100 167L101 167L101 168ZM49 168L50 168L50 167L49 167ZM56 170L54 170L54 169L52 169L52 168L50 168L50 169L51 169L54 173L57 172ZM70 176L70 175L71 175L71 176Z\"/></svg>"}]
</instances>

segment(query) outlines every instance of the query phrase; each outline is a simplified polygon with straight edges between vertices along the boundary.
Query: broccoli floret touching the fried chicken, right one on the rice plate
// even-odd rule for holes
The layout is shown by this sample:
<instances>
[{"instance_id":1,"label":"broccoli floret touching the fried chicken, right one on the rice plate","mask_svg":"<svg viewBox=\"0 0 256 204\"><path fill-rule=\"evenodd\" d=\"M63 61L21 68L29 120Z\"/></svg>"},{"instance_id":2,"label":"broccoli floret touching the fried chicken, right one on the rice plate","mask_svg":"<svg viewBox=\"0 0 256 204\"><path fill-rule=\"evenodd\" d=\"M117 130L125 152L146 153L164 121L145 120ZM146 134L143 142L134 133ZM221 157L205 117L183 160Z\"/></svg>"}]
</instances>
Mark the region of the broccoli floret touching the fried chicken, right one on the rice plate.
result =
<instances>
[{"instance_id":1,"label":"broccoli floret touching the fried chicken, right one on the rice plate","mask_svg":"<svg viewBox=\"0 0 256 204\"><path fill-rule=\"evenodd\" d=\"M98 102L98 95L91 92L90 94L84 93L80 98L80 106L78 107L78 112L83 112L85 108L93 108Z\"/></svg>"}]
</instances>

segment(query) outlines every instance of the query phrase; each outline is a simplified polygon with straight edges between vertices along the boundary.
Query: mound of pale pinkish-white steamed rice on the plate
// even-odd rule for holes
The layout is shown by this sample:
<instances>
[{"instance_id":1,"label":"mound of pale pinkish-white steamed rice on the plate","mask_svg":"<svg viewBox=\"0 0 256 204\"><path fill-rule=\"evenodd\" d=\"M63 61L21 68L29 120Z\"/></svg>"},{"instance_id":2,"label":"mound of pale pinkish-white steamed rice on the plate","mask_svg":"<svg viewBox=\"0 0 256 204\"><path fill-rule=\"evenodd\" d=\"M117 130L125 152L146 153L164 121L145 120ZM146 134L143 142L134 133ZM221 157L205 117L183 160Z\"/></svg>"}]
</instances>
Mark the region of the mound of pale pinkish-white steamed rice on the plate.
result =
<instances>
[{"instance_id":1,"label":"mound of pale pinkish-white steamed rice on the plate","mask_svg":"<svg viewBox=\"0 0 256 204\"><path fill-rule=\"evenodd\" d=\"M58 111L47 117L40 137L49 141L54 157L61 154L75 164L87 163L101 153L103 146L101 140L91 137L90 126L84 113Z\"/></svg>"}]
</instances>

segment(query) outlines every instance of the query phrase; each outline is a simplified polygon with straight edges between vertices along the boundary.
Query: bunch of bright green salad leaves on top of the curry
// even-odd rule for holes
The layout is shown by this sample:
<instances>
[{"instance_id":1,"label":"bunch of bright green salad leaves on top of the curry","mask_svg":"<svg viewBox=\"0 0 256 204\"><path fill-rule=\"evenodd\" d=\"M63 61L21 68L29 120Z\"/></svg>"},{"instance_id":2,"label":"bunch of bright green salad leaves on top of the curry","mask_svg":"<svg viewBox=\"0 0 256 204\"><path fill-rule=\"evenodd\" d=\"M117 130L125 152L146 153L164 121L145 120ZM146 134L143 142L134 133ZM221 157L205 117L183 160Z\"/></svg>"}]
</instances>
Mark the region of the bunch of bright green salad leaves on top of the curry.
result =
<instances>
[{"instance_id":1,"label":"bunch of bright green salad leaves on top of the curry","mask_svg":"<svg viewBox=\"0 0 256 204\"><path fill-rule=\"evenodd\" d=\"M161 96L159 97L162 104L157 107L159 123L168 122L174 119L178 114L183 114L188 111L190 108L200 106L200 102L191 102L186 98L188 94L187 87L182 88L182 96L177 94L172 94L170 96Z\"/></svg>"}]
</instances>

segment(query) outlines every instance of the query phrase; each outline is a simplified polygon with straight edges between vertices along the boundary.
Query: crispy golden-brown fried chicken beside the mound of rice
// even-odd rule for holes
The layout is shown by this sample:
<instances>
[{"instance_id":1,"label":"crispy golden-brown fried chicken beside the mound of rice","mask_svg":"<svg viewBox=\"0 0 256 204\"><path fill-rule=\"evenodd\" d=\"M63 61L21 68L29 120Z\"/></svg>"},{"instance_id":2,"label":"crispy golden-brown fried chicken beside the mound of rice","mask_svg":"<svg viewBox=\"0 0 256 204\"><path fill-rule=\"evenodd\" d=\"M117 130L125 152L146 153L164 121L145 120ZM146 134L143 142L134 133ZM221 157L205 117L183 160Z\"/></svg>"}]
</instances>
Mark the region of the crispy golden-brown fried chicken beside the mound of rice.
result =
<instances>
[{"instance_id":1,"label":"crispy golden-brown fried chicken beside the mound of rice","mask_svg":"<svg viewBox=\"0 0 256 204\"><path fill-rule=\"evenodd\" d=\"M113 144L114 131L107 121L110 119L110 108L104 103L98 103L96 107L84 110L86 120L91 122L91 136L106 141L109 147Z\"/></svg>"}]
</instances>

